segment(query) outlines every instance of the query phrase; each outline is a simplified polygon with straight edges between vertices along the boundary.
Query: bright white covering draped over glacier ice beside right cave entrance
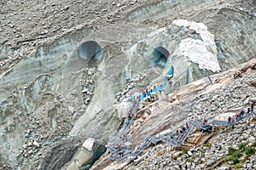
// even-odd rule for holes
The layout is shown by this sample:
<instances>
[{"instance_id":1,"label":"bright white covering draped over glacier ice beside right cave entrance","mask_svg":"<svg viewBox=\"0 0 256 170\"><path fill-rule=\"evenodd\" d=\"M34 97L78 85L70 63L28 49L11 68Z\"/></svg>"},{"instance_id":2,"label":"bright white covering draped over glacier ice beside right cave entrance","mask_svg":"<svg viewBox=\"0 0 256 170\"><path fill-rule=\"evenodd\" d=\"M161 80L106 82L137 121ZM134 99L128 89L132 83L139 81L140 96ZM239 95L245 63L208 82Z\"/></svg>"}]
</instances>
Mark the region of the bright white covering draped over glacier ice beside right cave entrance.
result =
<instances>
[{"instance_id":1,"label":"bright white covering draped over glacier ice beside right cave entrance","mask_svg":"<svg viewBox=\"0 0 256 170\"><path fill-rule=\"evenodd\" d=\"M201 69L221 71L214 36L207 31L207 26L188 20L174 20L172 23L177 26L187 26L201 36L201 40L183 39L175 52L177 56L187 56L190 61L199 64Z\"/></svg>"}]
</instances>

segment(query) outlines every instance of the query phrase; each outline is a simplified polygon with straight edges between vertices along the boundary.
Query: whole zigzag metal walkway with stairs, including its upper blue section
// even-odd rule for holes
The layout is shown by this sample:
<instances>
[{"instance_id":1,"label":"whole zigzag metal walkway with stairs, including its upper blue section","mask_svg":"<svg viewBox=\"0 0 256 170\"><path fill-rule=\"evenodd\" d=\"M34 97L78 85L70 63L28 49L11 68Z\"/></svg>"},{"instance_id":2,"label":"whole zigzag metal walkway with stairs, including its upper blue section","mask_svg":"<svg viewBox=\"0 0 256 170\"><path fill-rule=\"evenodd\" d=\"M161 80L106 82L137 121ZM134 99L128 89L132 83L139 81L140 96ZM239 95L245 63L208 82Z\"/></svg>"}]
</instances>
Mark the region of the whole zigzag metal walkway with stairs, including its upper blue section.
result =
<instances>
[{"instance_id":1,"label":"whole zigzag metal walkway with stairs, including its upper blue section","mask_svg":"<svg viewBox=\"0 0 256 170\"><path fill-rule=\"evenodd\" d=\"M148 139L144 140L142 144L139 144L134 150L131 150L131 139L127 137L127 133L129 128L131 127L132 123L137 116L137 108L139 105L140 100L143 100L150 96L150 94L159 92L163 90L167 85L167 82L160 84L157 87L152 89L143 91L143 94L139 96L131 96L133 106L131 111L129 111L129 116L125 119L124 126L119 131L118 135L110 140L108 143L110 156L109 159L111 160L123 160L128 156L138 156L142 150L148 148L150 144L157 144L158 142L165 142L166 144L170 144L174 147L178 147L183 144L183 142L188 138L189 134L193 132L194 128L197 127L201 129L201 131L212 131L212 125L218 126L233 126L237 122L241 122L242 120L247 119L248 117L252 116L254 113L253 111L243 116L239 117L238 119L234 118L234 122L228 122L228 117L221 117L221 116L212 116L207 119L206 122L202 122L198 119L198 117L194 117L191 121L188 122L189 126L183 127L182 133L181 130L176 130L176 133L166 133L165 135L156 137L150 136ZM172 131L173 132L173 131Z\"/></svg>"}]
</instances>

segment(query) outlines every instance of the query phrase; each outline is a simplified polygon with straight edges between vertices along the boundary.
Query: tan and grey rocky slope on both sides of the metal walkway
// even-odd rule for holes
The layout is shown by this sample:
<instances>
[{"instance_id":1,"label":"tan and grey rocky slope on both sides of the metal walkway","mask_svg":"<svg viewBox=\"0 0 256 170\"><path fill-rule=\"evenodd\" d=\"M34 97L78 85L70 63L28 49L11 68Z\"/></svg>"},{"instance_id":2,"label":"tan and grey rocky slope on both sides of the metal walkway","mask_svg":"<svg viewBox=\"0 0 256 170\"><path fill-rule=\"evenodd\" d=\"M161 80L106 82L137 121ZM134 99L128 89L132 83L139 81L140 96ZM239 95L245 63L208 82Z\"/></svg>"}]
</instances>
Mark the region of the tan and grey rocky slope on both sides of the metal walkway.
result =
<instances>
[{"instance_id":1,"label":"tan and grey rocky slope on both sides of the metal walkway","mask_svg":"<svg viewBox=\"0 0 256 170\"><path fill-rule=\"evenodd\" d=\"M211 77L212 83L205 79L192 82L170 94L167 101L155 101L138 111L129 132L134 144L132 147L151 135L158 136L158 133L170 127L172 131L183 126L193 116L225 116L227 119L230 112L235 115L241 109L247 111L249 99L256 95L255 64L256 59L252 59L237 69L214 75ZM107 154L96 163L94 169L97 166L104 169L252 169L256 165L253 161L255 152L252 156L245 154L246 148L240 149L243 156L239 157L239 162L232 163L232 154L228 149L237 149L241 143L255 148L254 123L255 116L235 126L234 130L231 127L215 127L213 134L192 134L178 148L180 151L163 143L149 147L140 156L127 158L122 163L104 160L104 157L108 160Z\"/></svg>"}]
</instances>

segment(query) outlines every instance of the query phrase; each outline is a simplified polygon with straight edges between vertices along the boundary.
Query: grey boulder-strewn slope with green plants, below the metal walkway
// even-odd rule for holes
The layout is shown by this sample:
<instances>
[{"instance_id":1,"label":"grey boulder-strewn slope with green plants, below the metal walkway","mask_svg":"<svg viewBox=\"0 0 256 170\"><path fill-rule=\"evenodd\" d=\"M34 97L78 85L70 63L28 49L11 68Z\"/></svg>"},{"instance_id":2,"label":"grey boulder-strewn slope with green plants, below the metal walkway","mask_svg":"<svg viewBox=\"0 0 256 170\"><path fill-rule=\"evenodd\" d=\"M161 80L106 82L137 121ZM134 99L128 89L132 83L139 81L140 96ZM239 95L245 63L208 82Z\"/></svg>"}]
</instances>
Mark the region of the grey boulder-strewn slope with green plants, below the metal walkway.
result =
<instances>
[{"instance_id":1,"label":"grey boulder-strewn slope with green plants, below the metal walkway","mask_svg":"<svg viewBox=\"0 0 256 170\"><path fill-rule=\"evenodd\" d=\"M254 169L255 162L255 117L239 124L234 130L218 128L209 143L186 150L170 151L170 146L160 144L146 151L142 159L135 160L124 169ZM231 150L241 156L236 161ZM253 148L254 151L249 152Z\"/></svg>"}]
</instances>

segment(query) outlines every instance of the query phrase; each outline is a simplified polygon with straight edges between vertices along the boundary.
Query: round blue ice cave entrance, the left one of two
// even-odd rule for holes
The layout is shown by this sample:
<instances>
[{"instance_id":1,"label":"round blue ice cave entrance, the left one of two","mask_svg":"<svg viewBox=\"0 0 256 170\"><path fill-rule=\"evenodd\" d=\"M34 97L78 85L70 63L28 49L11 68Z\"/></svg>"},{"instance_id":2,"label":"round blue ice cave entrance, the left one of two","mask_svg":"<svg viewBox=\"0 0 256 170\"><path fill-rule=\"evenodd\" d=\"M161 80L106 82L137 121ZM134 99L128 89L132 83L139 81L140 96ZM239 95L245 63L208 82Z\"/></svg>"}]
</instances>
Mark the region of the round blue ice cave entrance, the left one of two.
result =
<instances>
[{"instance_id":1,"label":"round blue ice cave entrance, the left one of two","mask_svg":"<svg viewBox=\"0 0 256 170\"><path fill-rule=\"evenodd\" d=\"M79 47L79 55L86 61L97 61L102 58L102 47L94 41L84 42Z\"/></svg>"}]
</instances>

